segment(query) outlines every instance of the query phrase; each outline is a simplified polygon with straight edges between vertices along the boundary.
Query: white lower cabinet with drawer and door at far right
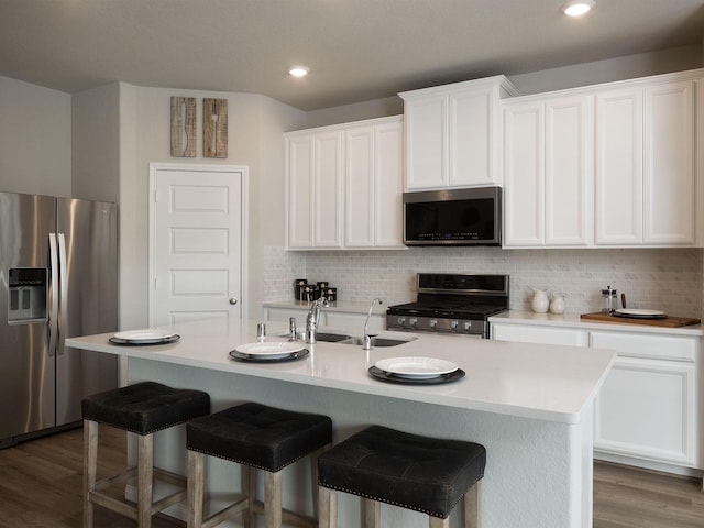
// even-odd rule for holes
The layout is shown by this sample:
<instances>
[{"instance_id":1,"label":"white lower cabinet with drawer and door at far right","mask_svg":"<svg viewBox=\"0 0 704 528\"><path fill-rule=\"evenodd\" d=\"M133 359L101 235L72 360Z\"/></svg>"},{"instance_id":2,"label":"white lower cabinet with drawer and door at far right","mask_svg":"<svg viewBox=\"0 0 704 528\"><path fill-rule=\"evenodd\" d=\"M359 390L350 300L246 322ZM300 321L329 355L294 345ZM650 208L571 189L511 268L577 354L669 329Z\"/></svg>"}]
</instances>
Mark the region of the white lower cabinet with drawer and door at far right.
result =
<instances>
[{"instance_id":1,"label":"white lower cabinet with drawer and door at far right","mask_svg":"<svg viewBox=\"0 0 704 528\"><path fill-rule=\"evenodd\" d=\"M700 466L698 340L590 332L590 344L618 353L596 398L594 448Z\"/></svg>"}]
</instances>

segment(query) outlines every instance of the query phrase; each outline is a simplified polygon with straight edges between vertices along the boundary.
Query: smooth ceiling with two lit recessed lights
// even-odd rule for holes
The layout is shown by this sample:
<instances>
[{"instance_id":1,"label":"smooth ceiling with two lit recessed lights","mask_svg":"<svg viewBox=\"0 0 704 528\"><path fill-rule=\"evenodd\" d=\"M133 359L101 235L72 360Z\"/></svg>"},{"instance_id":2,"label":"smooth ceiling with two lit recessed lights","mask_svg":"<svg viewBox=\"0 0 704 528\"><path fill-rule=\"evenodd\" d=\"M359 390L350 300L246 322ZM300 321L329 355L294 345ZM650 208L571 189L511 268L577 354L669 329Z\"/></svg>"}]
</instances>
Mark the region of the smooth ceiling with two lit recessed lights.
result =
<instances>
[{"instance_id":1,"label":"smooth ceiling with two lit recessed lights","mask_svg":"<svg viewBox=\"0 0 704 528\"><path fill-rule=\"evenodd\" d=\"M703 44L704 0L0 0L0 75L264 94L301 110ZM292 65L310 68L304 79Z\"/></svg>"}]
</instances>

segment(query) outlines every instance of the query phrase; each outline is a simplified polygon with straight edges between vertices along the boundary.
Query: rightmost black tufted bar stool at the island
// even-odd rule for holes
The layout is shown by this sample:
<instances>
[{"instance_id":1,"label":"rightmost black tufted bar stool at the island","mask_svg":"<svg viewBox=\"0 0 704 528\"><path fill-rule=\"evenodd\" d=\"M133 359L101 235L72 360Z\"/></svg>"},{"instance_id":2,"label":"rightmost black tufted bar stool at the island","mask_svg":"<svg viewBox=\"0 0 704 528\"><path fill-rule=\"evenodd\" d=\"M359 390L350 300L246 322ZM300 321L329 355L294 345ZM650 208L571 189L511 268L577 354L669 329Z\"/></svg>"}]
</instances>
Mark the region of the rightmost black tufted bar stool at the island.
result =
<instances>
[{"instance_id":1,"label":"rightmost black tufted bar stool at the island","mask_svg":"<svg viewBox=\"0 0 704 528\"><path fill-rule=\"evenodd\" d=\"M380 502L429 516L447 528L464 499L464 526L479 528L486 450L479 443L438 440L372 426L318 459L320 528L337 526L334 491L362 498L365 528L378 527Z\"/></svg>"}]
</instances>

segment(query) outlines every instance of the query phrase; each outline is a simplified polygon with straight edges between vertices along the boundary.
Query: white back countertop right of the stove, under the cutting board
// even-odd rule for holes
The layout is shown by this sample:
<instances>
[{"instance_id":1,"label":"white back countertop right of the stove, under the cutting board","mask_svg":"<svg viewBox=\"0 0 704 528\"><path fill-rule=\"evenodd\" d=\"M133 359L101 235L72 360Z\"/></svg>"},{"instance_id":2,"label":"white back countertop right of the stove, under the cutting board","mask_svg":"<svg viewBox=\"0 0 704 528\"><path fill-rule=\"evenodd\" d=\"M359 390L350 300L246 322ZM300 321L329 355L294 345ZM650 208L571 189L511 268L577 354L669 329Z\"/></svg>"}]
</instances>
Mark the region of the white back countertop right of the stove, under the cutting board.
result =
<instances>
[{"instance_id":1,"label":"white back countertop right of the stove, under the cutting board","mask_svg":"<svg viewBox=\"0 0 704 528\"><path fill-rule=\"evenodd\" d=\"M532 311L509 310L488 318L490 323L514 323L535 324L543 327L569 327L584 330L618 330L623 332L659 333L672 336L704 336L704 326L692 324L689 327L654 327L650 324L634 324L619 322L614 318L614 322L598 322L584 320L579 314L535 314Z\"/></svg>"}]
</instances>

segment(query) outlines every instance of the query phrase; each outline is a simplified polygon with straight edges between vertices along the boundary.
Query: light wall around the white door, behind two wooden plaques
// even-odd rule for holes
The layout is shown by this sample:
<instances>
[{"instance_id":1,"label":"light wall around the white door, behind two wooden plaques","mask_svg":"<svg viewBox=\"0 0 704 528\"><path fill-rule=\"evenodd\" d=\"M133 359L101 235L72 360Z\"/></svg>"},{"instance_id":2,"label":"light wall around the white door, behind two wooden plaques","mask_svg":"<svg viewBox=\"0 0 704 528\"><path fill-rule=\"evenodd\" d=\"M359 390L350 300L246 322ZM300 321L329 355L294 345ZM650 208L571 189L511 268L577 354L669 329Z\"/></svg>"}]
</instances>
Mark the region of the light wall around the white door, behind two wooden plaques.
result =
<instances>
[{"instance_id":1,"label":"light wall around the white door, behind two wooden plaques","mask_svg":"<svg viewBox=\"0 0 704 528\"><path fill-rule=\"evenodd\" d=\"M196 97L197 156L170 156L170 97ZM202 157L202 98L228 99L228 157ZM249 296L251 314L262 302L263 244L284 245L284 140L302 125L304 112L265 96L120 84L120 328L148 322L150 163L246 165L250 169Z\"/></svg>"}]
</instances>

